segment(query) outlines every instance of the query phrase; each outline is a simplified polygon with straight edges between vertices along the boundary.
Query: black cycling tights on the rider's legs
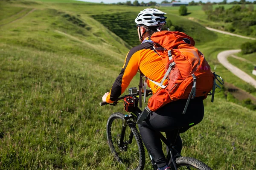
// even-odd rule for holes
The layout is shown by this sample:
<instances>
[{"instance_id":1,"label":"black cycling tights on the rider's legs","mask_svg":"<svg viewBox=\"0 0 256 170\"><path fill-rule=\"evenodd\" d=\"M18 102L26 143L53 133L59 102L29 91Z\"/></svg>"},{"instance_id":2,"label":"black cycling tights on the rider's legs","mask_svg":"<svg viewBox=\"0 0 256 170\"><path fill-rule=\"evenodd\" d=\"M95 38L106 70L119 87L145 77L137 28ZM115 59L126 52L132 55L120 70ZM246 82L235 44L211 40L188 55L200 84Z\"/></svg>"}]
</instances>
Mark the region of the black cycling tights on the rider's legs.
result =
<instances>
[{"instance_id":1,"label":"black cycling tights on the rider's legs","mask_svg":"<svg viewBox=\"0 0 256 170\"><path fill-rule=\"evenodd\" d=\"M183 133L201 122L204 117L202 98L191 99L186 113L183 114L185 105L186 100L171 102L157 111L151 112L146 120L139 125L143 143L157 163L157 167L163 167L167 163L162 150L162 142L155 130L165 132L167 140L170 141L175 129L183 127L180 129L180 133ZM177 145L176 149L181 152L182 141L180 135L177 136L175 144Z\"/></svg>"}]
</instances>

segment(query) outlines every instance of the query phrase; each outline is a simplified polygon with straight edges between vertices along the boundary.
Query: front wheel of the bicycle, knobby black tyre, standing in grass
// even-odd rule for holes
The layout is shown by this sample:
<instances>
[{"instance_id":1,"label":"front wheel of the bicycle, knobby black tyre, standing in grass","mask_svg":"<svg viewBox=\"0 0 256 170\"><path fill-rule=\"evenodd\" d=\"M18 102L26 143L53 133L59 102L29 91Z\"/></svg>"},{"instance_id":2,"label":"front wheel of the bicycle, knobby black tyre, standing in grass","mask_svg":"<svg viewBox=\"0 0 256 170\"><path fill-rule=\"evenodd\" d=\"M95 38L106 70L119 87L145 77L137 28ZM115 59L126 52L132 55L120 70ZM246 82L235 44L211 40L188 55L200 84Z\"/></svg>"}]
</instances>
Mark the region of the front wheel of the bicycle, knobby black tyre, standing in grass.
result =
<instances>
[{"instance_id":1,"label":"front wheel of the bicycle, knobby black tyre, standing in grass","mask_svg":"<svg viewBox=\"0 0 256 170\"><path fill-rule=\"evenodd\" d=\"M145 164L145 150L140 133L134 122L128 121L125 130L124 147L119 148L124 115L113 113L107 122L107 138L111 152L116 160L124 164L128 170L143 170ZM132 139L132 138L135 138Z\"/></svg>"}]
</instances>

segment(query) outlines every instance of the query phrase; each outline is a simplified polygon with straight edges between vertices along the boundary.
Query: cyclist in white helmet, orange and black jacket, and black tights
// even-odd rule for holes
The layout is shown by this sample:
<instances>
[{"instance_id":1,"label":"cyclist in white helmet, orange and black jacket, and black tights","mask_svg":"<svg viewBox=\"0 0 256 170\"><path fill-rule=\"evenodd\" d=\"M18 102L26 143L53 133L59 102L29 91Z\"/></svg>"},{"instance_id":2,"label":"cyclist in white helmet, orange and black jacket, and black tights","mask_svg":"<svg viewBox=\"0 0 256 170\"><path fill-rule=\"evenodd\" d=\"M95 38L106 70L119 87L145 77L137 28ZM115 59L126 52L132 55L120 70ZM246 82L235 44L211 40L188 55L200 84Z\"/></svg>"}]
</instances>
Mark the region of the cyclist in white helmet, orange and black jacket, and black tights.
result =
<instances>
[{"instance_id":1,"label":"cyclist in white helmet, orange and black jacket, and black tights","mask_svg":"<svg viewBox=\"0 0 256 170\"><path fill-rule=\"evenodd\" d=\"M135 23L137 23L138 36L142 43L128 52L125 64L113 83L110 93L107 92L102 96L103 102L112 103L115 101L128 87L138 70L145 77L155 82L160 82L163 79L165 65L158 54L154 52L153 42L150 41L150 37L166 24L165 14L153 8L144 9L138 14ZM147 83L153 94L161 89L160 86L155 85L151 81L147 81ZM167 83L166 79L163 85ZM180 128L180 133L183 133L190 127L198 124L204 117L203 99L204 97L191 99L186 114L182 113L187 99L170 102L157 111L151 111L145 121L139 125L143 143L157 163L158 170L171 170L171 167L166 162L161 140L155 133L155 130L165 132L167 140L170 141L173 138L175 129ZM177 146L176 149L181 152L182 141L179 135L175 144Z\"/></svg>"}]
</instances>

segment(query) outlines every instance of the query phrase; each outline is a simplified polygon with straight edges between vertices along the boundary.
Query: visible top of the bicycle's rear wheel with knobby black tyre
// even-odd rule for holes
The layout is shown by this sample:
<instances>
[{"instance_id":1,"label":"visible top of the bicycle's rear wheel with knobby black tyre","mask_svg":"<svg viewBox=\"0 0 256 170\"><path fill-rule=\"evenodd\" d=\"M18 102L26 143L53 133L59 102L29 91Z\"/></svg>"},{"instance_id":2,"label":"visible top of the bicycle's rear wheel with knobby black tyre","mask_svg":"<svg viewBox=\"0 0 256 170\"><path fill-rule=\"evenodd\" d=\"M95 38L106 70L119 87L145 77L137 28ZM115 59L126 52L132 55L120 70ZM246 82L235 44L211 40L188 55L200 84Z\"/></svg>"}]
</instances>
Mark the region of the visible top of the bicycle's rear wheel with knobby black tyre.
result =
<instances>
[{"instance_id":1,"label":"visible top of the bicycle's rear wheel with knobby black tyre","mask_svg":"<svg viewBox=\"0 0 256 170\"><path fill-rule=\"evenodd\" d=\"M212 170L212 168L208 167L207 164L189 157L177 158L176 164L178 170Z\"/></svg>"}]
</instances>

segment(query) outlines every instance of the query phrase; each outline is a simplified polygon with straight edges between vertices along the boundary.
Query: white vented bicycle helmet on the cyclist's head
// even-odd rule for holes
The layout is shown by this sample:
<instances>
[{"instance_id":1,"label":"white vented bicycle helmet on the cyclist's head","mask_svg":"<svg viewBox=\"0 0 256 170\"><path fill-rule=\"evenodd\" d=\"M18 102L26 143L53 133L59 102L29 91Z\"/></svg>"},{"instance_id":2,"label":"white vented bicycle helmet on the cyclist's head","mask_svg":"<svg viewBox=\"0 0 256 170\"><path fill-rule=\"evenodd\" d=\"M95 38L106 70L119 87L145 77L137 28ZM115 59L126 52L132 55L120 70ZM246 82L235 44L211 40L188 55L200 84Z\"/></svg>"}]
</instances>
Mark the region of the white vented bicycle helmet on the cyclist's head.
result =
<instances>
[{"instance_id":1,"label":"white vented bicycle helmet on the cyclist's head","mask_svg":"<svg viewBox=\"0 0 256 170\"><path fill-rule=\"evenodd\" d=\"M164 26L166 25L166 13L155 8L146 8L140 11L138 17L135 19L137 25L152 26Z\"/></svg>"}]
</instances>

